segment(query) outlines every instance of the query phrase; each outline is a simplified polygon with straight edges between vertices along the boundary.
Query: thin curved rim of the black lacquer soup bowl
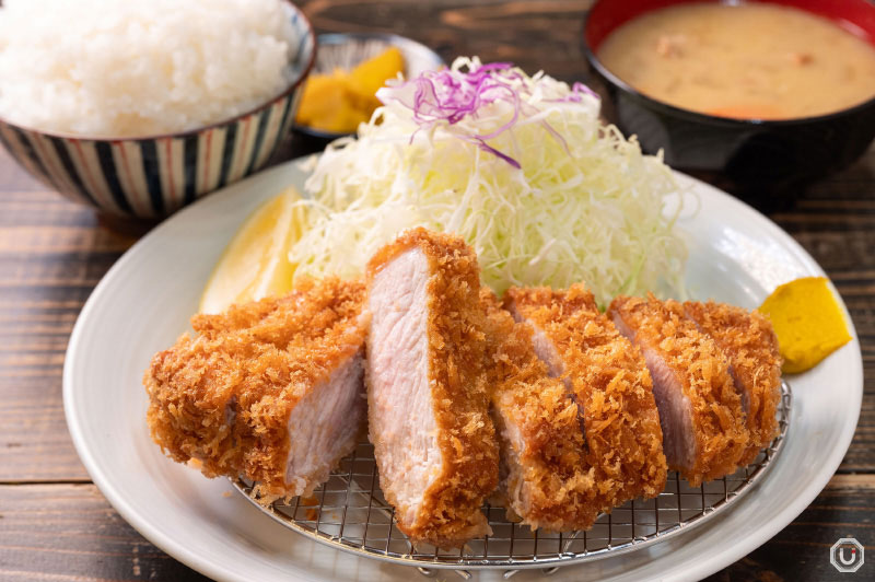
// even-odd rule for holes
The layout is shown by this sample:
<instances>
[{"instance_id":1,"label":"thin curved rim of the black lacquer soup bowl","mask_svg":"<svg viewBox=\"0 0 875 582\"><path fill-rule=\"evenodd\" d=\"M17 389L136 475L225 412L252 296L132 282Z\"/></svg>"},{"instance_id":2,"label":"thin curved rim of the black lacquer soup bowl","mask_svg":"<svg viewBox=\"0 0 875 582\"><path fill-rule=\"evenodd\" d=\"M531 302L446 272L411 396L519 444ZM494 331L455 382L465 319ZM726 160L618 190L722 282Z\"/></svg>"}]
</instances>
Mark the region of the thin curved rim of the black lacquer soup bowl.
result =
<instances>
[{"instance_id":1,"label":"thin curved rim of the black lacquer soup bowl","mask_svg":"<svg viewBox=\"0 0 875 582\"><path fill-rule=\"evenodd\" d=\"M841 117L855 115L861 113L865 109L875 107L875 95L871 98L858 103L856 105L852 105L850 107L845 107L843 109L838 109L832 113L827 113L822 115L812 115L807 117L789 117L785 119L758 119L755 117L721 117L719 115L710 115L707 113L695 112L692 109L686 109L684 107L678 107L677 105L672 105L664 101L657 100L655 97L651 97L645 93L634 89L632 85L614 74L605 65L598 59L595 55L595 51L590 46L590 39L586 36L586 25L590 22L590 15L592 14L593 9L603 3L607 0L595 0L592 5L586 11L586 14L583 16L583 26L581 30L581 43L583 45L583 53L586 57L586 60L590 65L596 70L598 74L600 74L604 79L608 81L608 83L615 85L617 89L630 94L631 96L638 98L639 101L644 102L648 106L654 109L661 109L663 113L668 113L674 115L675 117L684 118L688 121L695 123L707 123L710 125L723 125L730 126L735 128L778 128L778 127L788 127L788 126L795 126L795 125L805 125L805 124L819 124L819 123L828 123L833 119L838 119ZM690 3L695 0L678 0L676 3ZM762 0L763 3L770 3L769 0ZM713 2L713 3L721 3L721 2ZM798 8L798 10L805 11L803 8ZM807 12L807 11L806 11ZM611 31L612 32L612 31ZM850 34L850 33L849 33Z\"/></svg>"}]
</instances>

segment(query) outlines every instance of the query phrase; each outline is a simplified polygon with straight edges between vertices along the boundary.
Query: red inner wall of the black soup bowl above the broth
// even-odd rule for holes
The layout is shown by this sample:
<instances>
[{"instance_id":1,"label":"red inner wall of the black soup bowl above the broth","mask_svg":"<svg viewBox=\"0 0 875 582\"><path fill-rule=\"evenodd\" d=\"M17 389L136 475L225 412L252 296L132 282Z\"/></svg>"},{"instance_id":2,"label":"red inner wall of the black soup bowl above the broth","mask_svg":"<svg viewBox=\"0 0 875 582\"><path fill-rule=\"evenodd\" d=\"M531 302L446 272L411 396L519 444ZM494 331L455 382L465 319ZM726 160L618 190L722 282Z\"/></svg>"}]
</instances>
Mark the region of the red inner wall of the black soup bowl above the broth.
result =
<instances>
[{"instance_id":1,"label":"red inner wall of the black soup bowl above the broth","mask_svg":"<svg viewBox=\"0 0 875 582\"><path fill-rule=\"evenodd\" d=\"M693 0L599 0L590 10L584 39L593 53L619 25L635 16ZM751 0L757 1L757 0ZM837 22L844 30L866 39L875 47L875 3L868 0L766 0L805 10Z\"/></svg>"}]
</instances>

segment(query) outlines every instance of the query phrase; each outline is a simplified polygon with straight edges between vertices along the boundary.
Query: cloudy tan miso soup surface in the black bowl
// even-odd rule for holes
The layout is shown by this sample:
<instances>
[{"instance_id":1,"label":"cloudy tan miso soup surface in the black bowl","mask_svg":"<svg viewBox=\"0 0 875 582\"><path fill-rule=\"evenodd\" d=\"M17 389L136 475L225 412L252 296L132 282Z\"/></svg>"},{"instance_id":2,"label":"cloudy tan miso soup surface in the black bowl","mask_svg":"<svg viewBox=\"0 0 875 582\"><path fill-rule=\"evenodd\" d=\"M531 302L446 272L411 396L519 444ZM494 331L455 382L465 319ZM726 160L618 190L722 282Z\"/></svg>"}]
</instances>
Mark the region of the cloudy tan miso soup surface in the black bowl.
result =
<instances>
[{"instance_id":1,"label":"cloudy tan miso soup surface in the black bowl","mask_svg":"<svg viewBox=\"0 0 875 582\"><path fill-rule=\"evenodd\" d=\"M638 91L723 117L788 119L875 96L875 48L825 18L769 3L687 3L614 31L598 59Z\"/></svg>"}]
</instances>

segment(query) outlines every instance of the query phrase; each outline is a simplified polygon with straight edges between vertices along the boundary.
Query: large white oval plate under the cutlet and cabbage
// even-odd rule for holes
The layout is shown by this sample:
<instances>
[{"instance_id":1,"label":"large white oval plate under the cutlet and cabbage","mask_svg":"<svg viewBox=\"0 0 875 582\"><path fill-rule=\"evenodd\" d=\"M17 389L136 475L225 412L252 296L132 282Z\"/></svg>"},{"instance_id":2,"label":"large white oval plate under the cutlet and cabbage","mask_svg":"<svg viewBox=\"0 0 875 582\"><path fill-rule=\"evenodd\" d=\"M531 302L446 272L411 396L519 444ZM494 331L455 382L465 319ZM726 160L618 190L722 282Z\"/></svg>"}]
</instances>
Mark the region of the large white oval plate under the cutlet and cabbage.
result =
<instances>
[{"instance_id":1,"label":"large white oval plate under the cutlet and cabbage","mask_svg":"<svg viewBox=\"0 0 875 582\"><path fill-rule=\"evenodd\" d=\"M67 423L109 502L154 545L218 580L398 580L413 570L358 558L296 535L237 493L161 454L145 426L143 371L195 313L207 278L240 223L289 184L295 162L262 172L173 216L122 256L75 324L63 370ZM697 298L752 309L775 286L824 271L768 219L682 175L701 201L680 221L689 236L688 286ZM845 311L847 315L847 311ZM850 322L850 317L848 319ZM761 484L722 519L653 547L560 569L550 580L693 580L747 555L793 521L826 486L856 427L863 364L853 341L790 377L788 442ZM451 574L452 575L452 574ZM500 580L501 572L475 572ZM521 571L529 580L539 571Z\"/></svg>"}]
</instances>

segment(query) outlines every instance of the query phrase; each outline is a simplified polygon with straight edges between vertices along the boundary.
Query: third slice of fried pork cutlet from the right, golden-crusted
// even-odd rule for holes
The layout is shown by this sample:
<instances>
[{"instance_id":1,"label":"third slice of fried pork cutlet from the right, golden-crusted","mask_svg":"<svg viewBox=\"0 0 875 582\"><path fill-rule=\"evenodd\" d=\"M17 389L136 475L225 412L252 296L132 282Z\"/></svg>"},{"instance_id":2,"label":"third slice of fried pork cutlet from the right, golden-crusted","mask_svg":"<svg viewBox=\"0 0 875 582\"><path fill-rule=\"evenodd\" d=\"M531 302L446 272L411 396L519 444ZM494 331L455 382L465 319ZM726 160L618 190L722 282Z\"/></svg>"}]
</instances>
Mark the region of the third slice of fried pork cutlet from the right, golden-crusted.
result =
<instances>
[{"instance_id":1,"label":"third slice of fried pork cutlet from the right, golden-crusted","mask_svg":"<svg viewBox=\"0 0 875 582\"><path fill-rule=\"evenodd\" d=\"M535 350L578 406L602 511L665 488L666 462L643 358L583 284L511 288L505 306L534 330Z\"/></svg>"}]
</instances>

